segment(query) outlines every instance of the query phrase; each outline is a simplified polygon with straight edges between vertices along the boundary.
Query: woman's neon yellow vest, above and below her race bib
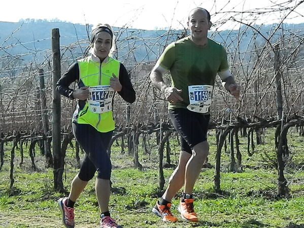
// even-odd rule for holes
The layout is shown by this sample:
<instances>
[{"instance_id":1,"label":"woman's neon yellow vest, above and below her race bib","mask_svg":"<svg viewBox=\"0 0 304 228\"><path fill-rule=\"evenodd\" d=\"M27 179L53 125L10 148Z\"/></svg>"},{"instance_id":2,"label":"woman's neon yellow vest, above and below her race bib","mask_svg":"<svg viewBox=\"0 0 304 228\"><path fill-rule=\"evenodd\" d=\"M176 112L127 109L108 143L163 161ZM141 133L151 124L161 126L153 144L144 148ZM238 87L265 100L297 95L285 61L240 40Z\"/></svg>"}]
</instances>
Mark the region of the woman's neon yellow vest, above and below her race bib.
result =
<instances>
[{"instance_id":1,"label":"woman's neon yellow vest, above and below her race bib","mask_svg":"<svg viewBox=\"0 0 304 228\"><path fill-rule=\"evenodd\" d=\"M107 61L100 63L92 61L92 57L78 60L79 79L84 86L110 85L112 73L119 77L120 62L107 57ZM84 108L78 113L78 123L88 123L98 132L110 132L115 128L112 110L105 113L92 113L86 102Z\"/></svg>"}]
</instances>

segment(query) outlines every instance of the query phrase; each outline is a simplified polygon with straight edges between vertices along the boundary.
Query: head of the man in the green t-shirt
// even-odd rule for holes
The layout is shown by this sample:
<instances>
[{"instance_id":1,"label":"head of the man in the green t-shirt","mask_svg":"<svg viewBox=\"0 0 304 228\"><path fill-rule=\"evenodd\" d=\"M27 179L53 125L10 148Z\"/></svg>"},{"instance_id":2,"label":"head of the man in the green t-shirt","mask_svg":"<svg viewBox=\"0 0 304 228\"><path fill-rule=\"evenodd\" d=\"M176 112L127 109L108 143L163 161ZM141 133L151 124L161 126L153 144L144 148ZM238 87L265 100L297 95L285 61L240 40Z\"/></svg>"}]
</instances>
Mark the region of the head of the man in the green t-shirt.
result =
<instances>
[{"instance_id":1,"label":"head of the man in the green t-shirt","mask_svg":"<svg viewBox=\"0 0 304 228\"><path fill-rule=\"evenodd\" d=\"M211 22L208 20L208 14L205 10L195 10L189 15L188 27L190 35L194 39L204 39L207 37Z\"/></svg>"}]
</instances>

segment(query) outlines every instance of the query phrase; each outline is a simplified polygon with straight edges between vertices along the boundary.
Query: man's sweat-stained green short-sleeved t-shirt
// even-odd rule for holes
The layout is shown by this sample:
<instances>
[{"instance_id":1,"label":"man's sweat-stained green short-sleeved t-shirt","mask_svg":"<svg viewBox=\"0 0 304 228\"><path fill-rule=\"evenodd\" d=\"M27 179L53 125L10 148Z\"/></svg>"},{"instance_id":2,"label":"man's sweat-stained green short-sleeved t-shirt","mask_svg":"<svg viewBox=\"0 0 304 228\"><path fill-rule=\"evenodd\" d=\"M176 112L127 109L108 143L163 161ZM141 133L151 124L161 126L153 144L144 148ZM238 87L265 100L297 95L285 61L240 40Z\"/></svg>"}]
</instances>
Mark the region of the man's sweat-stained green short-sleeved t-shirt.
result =
<instances>
[{"instance_id":1,"label":"man's sweat-stained green short-sleeved t-shirt","mask_svg":"<svg viewBox=\"0 0 304 228\"><path fill-rule=\"evenodd\" d=\"M170 70L172 86L183 90L180 95L184 101L175 105L169 103L168 109L187 108L189 85L214 86L217 72L229 69L222 45L208 39L207 45L198 46L189 37L168 45L157 63Z\"/></svg>"}]
</instances>

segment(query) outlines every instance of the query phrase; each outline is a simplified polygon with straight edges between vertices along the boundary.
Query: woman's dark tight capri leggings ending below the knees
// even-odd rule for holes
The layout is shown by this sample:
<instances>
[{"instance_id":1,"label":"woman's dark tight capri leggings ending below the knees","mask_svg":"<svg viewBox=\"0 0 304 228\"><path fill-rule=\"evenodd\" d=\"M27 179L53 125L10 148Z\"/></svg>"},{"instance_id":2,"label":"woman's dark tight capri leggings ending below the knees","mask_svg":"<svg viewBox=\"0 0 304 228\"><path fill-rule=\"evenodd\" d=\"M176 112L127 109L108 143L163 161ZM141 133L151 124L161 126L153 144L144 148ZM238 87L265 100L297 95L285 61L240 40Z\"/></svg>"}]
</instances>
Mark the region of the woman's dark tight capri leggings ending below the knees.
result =
<instances>
[{"instance_id":1,"label":"woman's dark tight capri leggings ending below the knees","mask_svg":"<svg viewBox=\"0 0 304 228\"><path fill-rule=\"evenodd\" d=\"M101 133L90 124L73 123L73 133L85 151L78 177L83 181L89 181L97 171L97 178L110 180L112 164L107 148L113 131Z\"/></svg>"}]
</instances>

